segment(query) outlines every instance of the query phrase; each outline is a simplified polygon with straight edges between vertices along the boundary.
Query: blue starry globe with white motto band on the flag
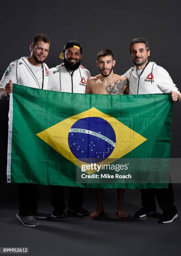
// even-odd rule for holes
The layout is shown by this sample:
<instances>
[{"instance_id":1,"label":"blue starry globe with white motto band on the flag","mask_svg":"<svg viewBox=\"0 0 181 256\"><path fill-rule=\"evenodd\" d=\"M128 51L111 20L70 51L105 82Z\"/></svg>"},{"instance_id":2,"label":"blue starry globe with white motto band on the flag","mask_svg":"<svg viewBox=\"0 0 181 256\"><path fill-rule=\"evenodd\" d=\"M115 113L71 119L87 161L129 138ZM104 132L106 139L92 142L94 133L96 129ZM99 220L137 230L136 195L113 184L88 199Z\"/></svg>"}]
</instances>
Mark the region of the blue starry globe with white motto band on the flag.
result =
<instances>
[{"instance_id":1,"label":"blue starry globe with white motto band on the flag","mask_svg":"<svg viewBox=\"0 0 181 256\"><path fill-rule=\"evenodd\" d=\"M116 135L110 123L103 118L82 118L70 128L68 144L80 161L98 163L113 152Z\"/></svg>"}]
</instances>

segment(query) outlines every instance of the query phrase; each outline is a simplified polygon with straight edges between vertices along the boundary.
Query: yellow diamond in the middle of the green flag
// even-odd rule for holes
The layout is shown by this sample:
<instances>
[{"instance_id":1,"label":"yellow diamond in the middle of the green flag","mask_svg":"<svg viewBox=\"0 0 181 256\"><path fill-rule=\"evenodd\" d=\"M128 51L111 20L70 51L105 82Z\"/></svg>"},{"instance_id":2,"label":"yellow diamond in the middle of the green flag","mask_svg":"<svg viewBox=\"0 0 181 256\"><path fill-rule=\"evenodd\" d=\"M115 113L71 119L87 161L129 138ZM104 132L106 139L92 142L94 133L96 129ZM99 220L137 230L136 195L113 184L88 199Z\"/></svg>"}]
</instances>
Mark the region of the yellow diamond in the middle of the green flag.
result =
<instances>
[{"instance_id":1,"label":"yellow diamond in the middle of the green flag","mask_svg":"<svg viewBox=\"0 0 181 256\"><path fill-rule=\"evenodd\" d=\"M90 120L93 120L92 129L90 128ZM78 121L81 122L79 122L78 127L75 128L75 123L78 123ZM88 126L82 128L81 124L85 123L85 121ZM101 130L101 126L99 131L99 125L105 126L105 123L109 126L106 128L107 133L104 129ZM95 127L99 132L94 131ZM110 134L111 131L114 133L112 136L114 139L111 139L111 135L109 136L109 131ZM90 156L94 151L97 164L111 164L115 159L120 159L147 140L116 118L106 115L96 108L91 108L66 118L36 135L78 167L81 167L82 164L89 165L92 158ZM68 139L71 138L71 135L72 138L76 139ZM88 139L85 139L84 143L85 136ZM106 143L106 149L103 149L103 143ZM99 148L97 146L97 149L95 149L96 145L100 145ZM86 157L85 151L87 154ZM81 158L81 154L83 154L84 157ZM101 161L99 161L99 157ZM84 158L88 160L83 160ZM96 171L96 169L87 169L86 172L92 174Z\"/></svg>"}]
</instances>

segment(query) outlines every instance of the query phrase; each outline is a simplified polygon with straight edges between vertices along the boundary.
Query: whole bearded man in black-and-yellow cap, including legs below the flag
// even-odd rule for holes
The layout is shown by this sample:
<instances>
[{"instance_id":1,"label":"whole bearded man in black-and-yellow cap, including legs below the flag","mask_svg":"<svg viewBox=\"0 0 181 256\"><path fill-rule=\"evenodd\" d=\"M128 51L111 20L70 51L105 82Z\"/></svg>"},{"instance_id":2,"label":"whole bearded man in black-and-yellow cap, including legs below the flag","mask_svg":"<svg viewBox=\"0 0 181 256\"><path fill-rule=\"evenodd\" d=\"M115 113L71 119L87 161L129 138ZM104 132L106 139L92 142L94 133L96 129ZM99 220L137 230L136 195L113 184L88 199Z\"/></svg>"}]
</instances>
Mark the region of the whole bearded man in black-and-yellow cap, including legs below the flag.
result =
<instances>
[{"instance_id":1,"label":"whole bearded man in black-and-yellow cap, including legs below the flag","mask_svg":"<svg viewBox=\"0 0 181 256\"><path fill-rule=\"evenodd\" d=\"M78 41L68 41L60 54L64 63L49 70L48 89L58 92L85 93L86 82L91 77L90 72L82 68L82 46ZM54 207L53 217L64 216L66 208L64 200L64 187L53 186L52 206ZM73 212L80 216L88 216L88 211L82 207L83 188L70 187L70 198L68 200L68 213Z\"/></svg>"}]
</instances>

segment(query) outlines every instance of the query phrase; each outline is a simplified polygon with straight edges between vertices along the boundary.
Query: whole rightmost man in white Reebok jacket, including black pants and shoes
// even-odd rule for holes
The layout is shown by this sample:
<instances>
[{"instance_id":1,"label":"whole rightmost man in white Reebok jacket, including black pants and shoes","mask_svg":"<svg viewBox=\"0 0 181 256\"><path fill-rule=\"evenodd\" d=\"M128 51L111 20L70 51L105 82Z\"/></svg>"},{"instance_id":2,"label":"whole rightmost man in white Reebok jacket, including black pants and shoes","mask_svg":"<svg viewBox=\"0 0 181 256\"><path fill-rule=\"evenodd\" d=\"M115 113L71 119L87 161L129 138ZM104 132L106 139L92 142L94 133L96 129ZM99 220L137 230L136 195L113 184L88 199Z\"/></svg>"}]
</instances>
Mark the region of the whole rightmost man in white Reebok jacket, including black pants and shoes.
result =
<instances>
[{"instance_id":1,"label":"whole rightmost man in white Reebok jacket, including black pants and shoes","mask_svg":"<svg viewBox=\"0 0 181 256\"><path fill-rule=\"evenodd\" d=\"M135 67L129 69L123 77L129 80L129 94L170 93L173 102L178 102L181 94L168 72L155 62L149 61L150 45L146 38L134 38L130 44L130 53ZM174 206L173 186L167 189L140 189L143 208L135 212L135 218L142 218L156 212L155 196L163 210L158 223L171 223L178 217Z\"/></svg>"}]
</instances>

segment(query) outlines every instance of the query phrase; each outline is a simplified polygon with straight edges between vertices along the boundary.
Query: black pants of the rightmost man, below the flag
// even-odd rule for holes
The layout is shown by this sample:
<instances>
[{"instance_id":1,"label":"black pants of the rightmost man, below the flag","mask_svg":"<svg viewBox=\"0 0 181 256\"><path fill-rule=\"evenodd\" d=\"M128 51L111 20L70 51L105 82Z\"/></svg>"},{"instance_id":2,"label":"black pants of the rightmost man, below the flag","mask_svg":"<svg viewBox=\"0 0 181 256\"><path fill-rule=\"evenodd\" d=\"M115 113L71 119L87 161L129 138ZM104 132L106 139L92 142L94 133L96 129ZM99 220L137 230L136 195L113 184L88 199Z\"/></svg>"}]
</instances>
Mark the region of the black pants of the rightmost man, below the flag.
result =
<instances>
[{"instance_id":1,"label":"black pants of the rightmost man, below the flag","mask_svg":"<svg viewBox=\"0 0 181 256\"><path fill-rule=\"evenodd\" d=\"M158 200L158 204L163 211L177 213L176 207L174 206L174 194L173 186L171 183L168 184L167 189L140 189L141 191L141 205L148 211L156 210L155 196Z\"/></svg>"}]
</instances>

